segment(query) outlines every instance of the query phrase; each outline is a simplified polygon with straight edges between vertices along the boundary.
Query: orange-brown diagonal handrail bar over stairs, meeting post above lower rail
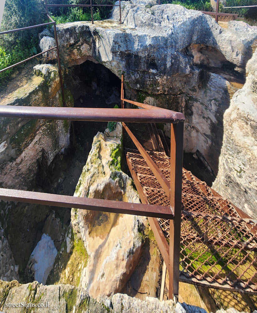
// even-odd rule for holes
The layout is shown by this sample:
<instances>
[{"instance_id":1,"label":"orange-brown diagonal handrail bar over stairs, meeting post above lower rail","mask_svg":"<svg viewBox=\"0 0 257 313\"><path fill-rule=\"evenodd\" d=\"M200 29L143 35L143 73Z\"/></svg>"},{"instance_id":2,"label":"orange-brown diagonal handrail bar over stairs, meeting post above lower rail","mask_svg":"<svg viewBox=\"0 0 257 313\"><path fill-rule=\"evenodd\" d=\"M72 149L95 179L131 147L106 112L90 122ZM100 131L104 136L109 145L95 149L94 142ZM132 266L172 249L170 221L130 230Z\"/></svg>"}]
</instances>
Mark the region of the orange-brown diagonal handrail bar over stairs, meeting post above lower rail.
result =
<instances>
[{"instance_id":1,"label":"orange-brown diagonal handrail bar over stairs, meeting post above lower rail","mask_svg":"<svg viewBox=\"0 0 257 313\"><path fill-rule=\"evenodd\" d=\"M126 109L123 109L126 110ZM149 156L149 154L144 150L143 146L139 143L133 133L130 131L128 126L125 123L122 123L125 131L127 131L129 137L134 142L135 146L138 148L139 152L143 156L145 162L150 167L151 171L153 172L154 176L158 180L159 184L162 186L164 192L166 193L167 197L170 198L170 184L167 178L164 176L163 172L159 169L159 167L154 163L153 159ZM173 208L172 208L173 209Z\"/></svg>"}]
</instances>

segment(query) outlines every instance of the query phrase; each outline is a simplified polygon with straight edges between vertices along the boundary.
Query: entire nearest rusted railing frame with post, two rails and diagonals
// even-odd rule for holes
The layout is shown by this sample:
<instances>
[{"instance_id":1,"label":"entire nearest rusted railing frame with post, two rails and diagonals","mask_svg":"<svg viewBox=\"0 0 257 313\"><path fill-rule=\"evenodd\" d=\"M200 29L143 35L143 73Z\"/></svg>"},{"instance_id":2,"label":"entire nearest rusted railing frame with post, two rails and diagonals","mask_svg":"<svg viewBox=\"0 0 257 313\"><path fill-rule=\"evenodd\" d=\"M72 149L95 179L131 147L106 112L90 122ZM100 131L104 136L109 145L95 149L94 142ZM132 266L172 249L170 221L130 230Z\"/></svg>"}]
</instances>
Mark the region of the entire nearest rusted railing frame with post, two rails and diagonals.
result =
<instances>
[{"instance_id":1,"label":"entire nearest rusted railing frame with post, two rails and diagonals","mask_svg":"<svg viewBox=\"0 0 257 313\"><path fill-rule=\"evenodd\" d=\"M121 99L124 99L123 97L124 91L122 90ZM130 100L124 99L124 101L128 102ZM123 100L121 100L121 102L123 103ZM145 204L123 203L103 199L77 198L3 188L0 188L0 199L148 216L150 225L158 240L158 244L160 245L160 251L162 252L164 260L167 263L170 277L169 298L172 298L173 295L178 295L179 291L179 247L184 115L179 112L152 107L135 101L134 103L138 106L143 106L144 110L124 109L124 106L123 109L98 109L2 105L0 106L0 117L70 121L122 121L123 128L125 128L129 136L131 136L147 164L153 171L161 186L164 188L164 191L169 196L170 206L149 206L147 198L144 198L144 195L140 190L140 197L143 197L142 202ZM170 184L124 122L171 123L172 146L170 158ZM158 228L155 227L157 220L154 218L156 217L168 218L170 220L169 249L167 243L165 244L163 242L163 236L159 234Z\"/></svg>"}]
</instances>

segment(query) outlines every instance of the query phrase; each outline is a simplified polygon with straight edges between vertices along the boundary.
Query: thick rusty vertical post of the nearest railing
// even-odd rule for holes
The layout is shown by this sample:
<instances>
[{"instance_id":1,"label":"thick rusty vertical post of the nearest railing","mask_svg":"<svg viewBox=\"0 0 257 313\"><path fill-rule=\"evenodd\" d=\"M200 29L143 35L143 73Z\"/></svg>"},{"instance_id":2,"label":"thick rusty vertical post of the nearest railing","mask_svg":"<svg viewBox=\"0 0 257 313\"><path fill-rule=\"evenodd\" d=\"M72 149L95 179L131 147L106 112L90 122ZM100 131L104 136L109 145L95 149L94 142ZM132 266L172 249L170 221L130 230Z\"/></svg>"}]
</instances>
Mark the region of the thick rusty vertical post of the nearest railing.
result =
<instances>
[{"instance_id":1,"label":"thick rusty vertical post of the nearest railing","mask_svg":"<svg viewBox=\"0 0 257 313\"><path fill-rule=\"evenodd\" d=\"M179 295L179 254L184 122L171 124L170 134L170 205L174 220L169 229L169 299Z\"/></svg>"}]
</instances>

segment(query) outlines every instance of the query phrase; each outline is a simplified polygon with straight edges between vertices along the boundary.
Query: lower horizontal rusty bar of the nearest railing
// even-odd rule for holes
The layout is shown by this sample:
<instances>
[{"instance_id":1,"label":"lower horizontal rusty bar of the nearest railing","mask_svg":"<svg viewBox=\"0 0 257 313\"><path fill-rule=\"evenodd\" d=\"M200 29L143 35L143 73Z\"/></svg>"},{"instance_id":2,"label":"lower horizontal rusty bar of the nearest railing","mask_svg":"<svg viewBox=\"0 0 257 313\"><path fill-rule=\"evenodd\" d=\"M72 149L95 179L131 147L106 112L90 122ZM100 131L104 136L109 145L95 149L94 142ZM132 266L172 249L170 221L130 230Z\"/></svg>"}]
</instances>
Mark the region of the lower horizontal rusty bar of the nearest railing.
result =
<instances>
[{"instance_id":1,"label":"lower horizontal rusty bar of the nearest railing","mask_svg":"<svg viewBox=\"0 0 257 313\"><path fill-rule=\"evenodd\" d=\"M5 201L34 203L55 207L78 208L84 210L173 219L172 211L168 206L164 207L143 203L128 203L105 199L80 198L52 193L5 188L0 188L0 199Z\"/></svg>"}]
</instances>

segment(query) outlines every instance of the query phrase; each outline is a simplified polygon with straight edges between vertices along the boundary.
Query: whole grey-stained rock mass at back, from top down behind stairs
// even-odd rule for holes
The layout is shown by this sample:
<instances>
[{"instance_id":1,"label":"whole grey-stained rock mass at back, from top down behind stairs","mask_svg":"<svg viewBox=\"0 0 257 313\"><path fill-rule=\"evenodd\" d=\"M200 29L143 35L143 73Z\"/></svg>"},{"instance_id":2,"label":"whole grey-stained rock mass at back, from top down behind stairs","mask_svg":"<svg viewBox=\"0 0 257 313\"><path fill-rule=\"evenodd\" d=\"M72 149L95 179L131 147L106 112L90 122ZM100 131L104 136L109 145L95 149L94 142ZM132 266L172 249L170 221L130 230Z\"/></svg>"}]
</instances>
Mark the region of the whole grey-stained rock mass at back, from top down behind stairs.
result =
<instances>
[{"instance_id":1,"label":"whole grey-stained rock mass at back, from top down behind stairs","mask_svg":"<svg viewBox=\"0 0 257 313\"><path fill-rule=\"evenodd\" d=\"M199 11L155 4L122 2L122 25L118 7L112 19L94 25L58 25L62 59L68 66L92 60L118 77L125 73L132 100L183 112L184 150L199 150L216 176L223 114L238 89L229 81L242 78L257 29L235 21L223 29Z\"/></svg>"}]
</instances>

